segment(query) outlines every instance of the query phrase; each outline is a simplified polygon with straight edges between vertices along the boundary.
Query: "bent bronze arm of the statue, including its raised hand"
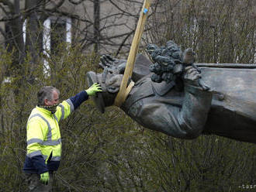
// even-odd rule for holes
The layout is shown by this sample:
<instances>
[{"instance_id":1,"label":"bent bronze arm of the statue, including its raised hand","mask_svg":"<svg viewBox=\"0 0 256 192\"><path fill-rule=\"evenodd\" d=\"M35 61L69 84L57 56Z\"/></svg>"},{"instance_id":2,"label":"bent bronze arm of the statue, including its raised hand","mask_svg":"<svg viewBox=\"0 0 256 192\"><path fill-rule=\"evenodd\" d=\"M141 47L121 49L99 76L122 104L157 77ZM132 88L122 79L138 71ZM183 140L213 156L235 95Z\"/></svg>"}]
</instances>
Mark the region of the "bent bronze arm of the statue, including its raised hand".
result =
<instances>
[{"instance_id":1,"label":"bent bronze arm of the statue, including its raised hand","mask_svg":"<svg viewBox=\"0 0 256 192\"><path fill-rule=\"evenodd\" d=\"M199 87L199 77L199 72L189 67L183 78L184 98L180 96L178 101L171 94L143 98L129 108L128 115L148 129L181 139L196 138L204 129L212 101L212 93Z\"/></svg>"}]
</instances>

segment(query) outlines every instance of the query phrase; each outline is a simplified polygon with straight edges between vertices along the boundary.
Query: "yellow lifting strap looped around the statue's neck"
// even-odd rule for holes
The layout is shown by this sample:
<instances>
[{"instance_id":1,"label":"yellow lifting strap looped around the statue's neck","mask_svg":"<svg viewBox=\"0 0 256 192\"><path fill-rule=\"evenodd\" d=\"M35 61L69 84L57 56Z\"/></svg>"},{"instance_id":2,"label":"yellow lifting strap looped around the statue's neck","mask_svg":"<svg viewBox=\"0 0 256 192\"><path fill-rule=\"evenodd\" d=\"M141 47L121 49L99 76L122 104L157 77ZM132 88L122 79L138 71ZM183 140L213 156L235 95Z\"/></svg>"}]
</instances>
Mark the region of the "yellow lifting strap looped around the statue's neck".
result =
<instances>
[{"instance_id":1,"label":"yellow lifting strap looped around the statue's neck","mask_svg":"<svg viewBox=\"0 0 256 192\"><path fill-rule=\"evenodd\" d=\"M118 107L120 107L123 104L123 102L126 100L128 94L130 93L134 85L134 82L131 81L129 86L127 87L129 78L132 77L132 74L133 74L133 66L134 66L135 58L137 56L140 39L141 39L142 33L144 32L144 26L147 19L149 7L150 7L150 0L144 0L144 5L140 12L140 19L138 21L135 34L133 36L133 42L130 47L128 59L126 61L126 69L124 70L123 80L120 85L119 92L116 95L116 100L114 103L114 105Z\"/></svg>"}]
</instances>

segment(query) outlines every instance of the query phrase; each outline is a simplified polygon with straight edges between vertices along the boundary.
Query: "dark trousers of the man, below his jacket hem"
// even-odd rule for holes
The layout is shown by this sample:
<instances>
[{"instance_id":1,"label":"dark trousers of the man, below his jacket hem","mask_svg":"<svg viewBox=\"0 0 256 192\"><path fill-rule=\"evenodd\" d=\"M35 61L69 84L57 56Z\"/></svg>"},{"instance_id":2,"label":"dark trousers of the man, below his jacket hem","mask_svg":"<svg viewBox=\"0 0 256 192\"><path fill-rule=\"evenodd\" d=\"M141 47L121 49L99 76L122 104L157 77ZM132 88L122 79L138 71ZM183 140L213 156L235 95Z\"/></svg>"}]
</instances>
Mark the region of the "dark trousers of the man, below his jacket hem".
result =
<instances>
[{"instance_id":1,"label":"dark trousers of the man, below his jacket hem","mask_svg":"<svg viewBox=\"0 0 256 192\"><path fill-rule=\"evenodd\" d=\"M47 185L44 185L40 180L39 174L25 173L26 182L28 183L29 192L52 192L53 185L53 173L50 173L50 180Z\"/></svg>"}]
</instances>

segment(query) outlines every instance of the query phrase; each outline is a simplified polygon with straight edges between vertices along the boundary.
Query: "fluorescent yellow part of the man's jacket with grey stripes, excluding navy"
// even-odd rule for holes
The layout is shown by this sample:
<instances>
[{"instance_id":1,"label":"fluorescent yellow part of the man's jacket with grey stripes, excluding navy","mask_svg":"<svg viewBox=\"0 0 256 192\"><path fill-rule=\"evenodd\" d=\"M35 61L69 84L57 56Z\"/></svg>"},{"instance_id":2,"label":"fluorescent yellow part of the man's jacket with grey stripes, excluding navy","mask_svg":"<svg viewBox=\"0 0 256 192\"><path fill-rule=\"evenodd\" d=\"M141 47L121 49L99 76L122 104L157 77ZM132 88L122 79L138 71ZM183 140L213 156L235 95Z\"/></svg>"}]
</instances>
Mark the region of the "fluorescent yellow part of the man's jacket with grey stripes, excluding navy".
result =
<instances>
[{"instance_id":1,"label":"fluorescent yellow part of the man's jacket with grey stripes, excluding navy","mask_svg":"<svg viewBox=\"0 0 256 192\"><path fill-rule=\"evenodd\" d=\"M63 101L55 114L44 108L33 108L26 125L27 156L43 156L47 162L50 154L51 161L61 160L61 132L58 122L67 118L74 111L70 99Z\"/></svg>"}]
</instances>

